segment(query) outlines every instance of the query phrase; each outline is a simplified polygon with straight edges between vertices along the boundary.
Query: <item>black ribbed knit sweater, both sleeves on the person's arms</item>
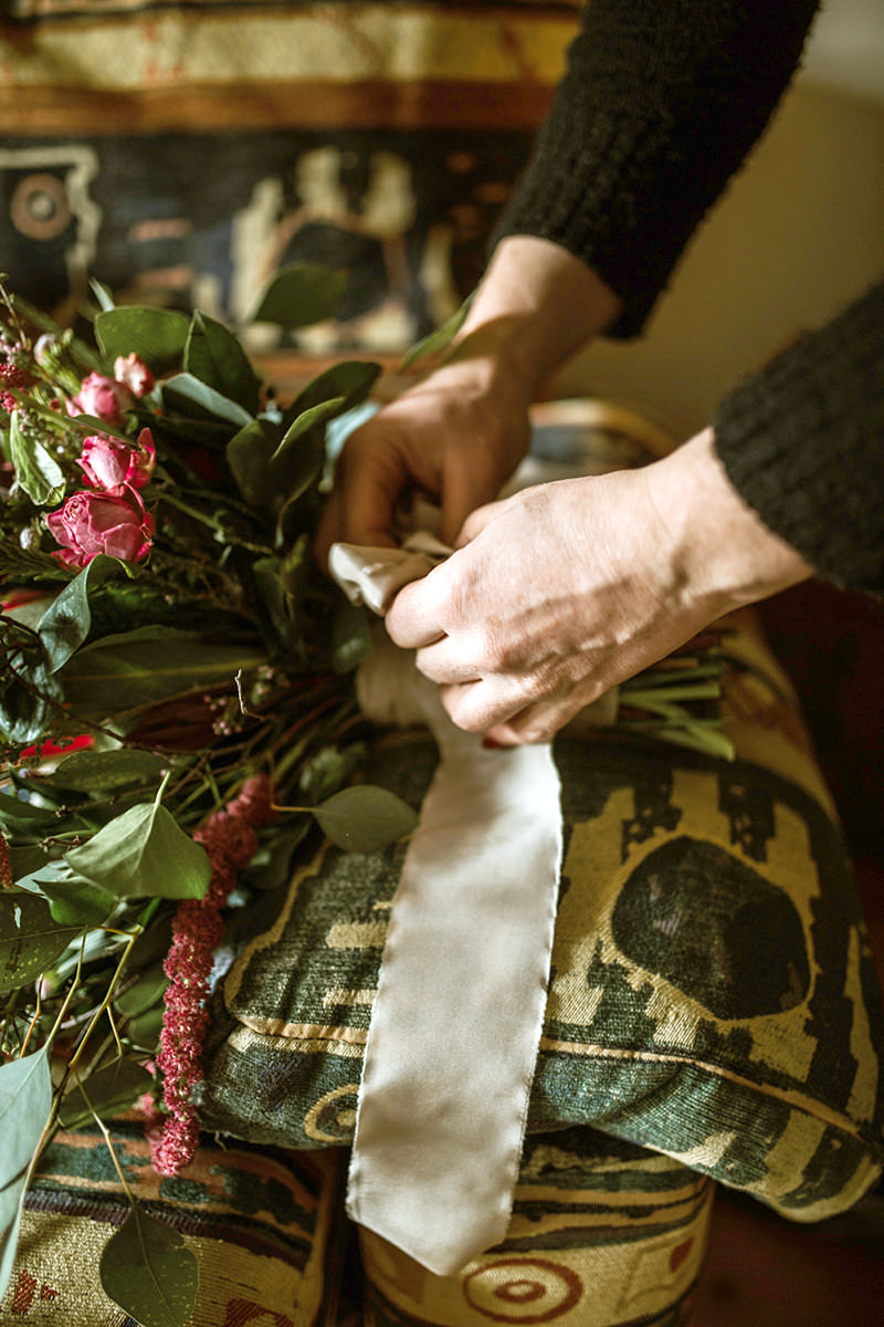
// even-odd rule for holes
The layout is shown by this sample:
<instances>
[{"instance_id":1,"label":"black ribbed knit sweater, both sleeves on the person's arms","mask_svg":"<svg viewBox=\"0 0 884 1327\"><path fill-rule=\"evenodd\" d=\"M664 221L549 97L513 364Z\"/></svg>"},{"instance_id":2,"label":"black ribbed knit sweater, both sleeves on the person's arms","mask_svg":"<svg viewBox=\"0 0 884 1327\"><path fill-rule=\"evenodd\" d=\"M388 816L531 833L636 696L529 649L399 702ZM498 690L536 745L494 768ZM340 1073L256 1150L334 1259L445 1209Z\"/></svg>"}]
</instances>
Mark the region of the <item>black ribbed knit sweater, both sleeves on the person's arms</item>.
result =
<instances>
[{"instance_id":1,"label":"black ribbed knit sweater, both sleeves on the person's arms","mask_svg":"<svg viewBox=\"0 0 884 1327\"><path fill-rule=\"evenodd\" d=\"M569 249L637 333L789 85L818 0L590 0L498 238ZM884 593L884 284L737 389L718 455L770 529Z\"/></svg>"}]
</instances>

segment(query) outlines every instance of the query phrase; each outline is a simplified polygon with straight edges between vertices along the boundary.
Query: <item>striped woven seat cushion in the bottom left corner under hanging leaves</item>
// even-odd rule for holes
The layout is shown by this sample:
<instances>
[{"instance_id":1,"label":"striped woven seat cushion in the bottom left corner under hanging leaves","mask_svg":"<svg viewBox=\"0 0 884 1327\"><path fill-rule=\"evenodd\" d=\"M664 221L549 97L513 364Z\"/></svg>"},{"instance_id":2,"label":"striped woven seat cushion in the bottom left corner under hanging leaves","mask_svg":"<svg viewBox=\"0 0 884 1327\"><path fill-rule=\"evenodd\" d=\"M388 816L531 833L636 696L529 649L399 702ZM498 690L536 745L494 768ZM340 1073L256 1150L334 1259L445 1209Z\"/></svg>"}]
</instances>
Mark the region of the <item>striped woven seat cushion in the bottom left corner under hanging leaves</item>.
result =
<instances>
[{"instance_id":1,"label":"striped woven seat cushion in the bottom left corner under hanging leaves","mask_svg":"<svg viewBox=\"0 0 884 1327\"><path fill-rule=\"evenodd\" d=\"M326 1157L203 1141L176 1178L150 1164L142 1120L111 1139L139 1204L183 1237L199 1265L188 1327L309 1327L335 1278L334 1180ZM25 1200L0 1322L29 1327L134 1327L103 1292L102 1250L130 1212L97 1129L60 1133ZM159 1319L156 1319L159 1320Z\"/></svg>"}]
</instances>

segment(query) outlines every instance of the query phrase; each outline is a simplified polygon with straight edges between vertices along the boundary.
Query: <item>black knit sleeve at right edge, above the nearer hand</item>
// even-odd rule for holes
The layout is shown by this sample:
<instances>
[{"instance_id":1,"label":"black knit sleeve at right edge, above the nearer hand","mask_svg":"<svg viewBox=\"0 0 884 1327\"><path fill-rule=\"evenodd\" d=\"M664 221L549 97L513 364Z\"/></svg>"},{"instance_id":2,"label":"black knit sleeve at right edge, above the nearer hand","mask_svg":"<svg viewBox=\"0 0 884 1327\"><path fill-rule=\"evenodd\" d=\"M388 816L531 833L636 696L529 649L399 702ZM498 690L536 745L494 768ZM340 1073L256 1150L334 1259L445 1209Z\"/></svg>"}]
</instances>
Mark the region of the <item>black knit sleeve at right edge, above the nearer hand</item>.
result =
<instances>
[{"instance_id":1,"label":"black knit sleeve at right edge, above the nearer hand","mask_svg":"<svg viewBox=\"0 0 884 1327\"><path fill-rule=\"evenodd\" d=\"M769 529L830 580L884 594L884 281L738 386L714 434Z\"/></svg>"}]
</instances>

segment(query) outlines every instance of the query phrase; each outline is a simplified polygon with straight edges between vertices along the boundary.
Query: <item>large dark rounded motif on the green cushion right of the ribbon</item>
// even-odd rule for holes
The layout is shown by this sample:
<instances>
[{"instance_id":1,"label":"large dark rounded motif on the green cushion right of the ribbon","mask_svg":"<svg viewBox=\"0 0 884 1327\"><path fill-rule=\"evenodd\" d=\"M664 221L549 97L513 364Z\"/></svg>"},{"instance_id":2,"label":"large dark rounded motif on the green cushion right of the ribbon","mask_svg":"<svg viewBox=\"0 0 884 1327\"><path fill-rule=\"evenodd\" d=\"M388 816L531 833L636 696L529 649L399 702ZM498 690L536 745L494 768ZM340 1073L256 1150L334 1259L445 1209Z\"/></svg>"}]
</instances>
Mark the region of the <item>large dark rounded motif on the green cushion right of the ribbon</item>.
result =
<instances>
[{"instance_id":1,"label":"large dark rounded motif on the green cushion right of the ribbon","mask_svg":"<svg viewBox=\"0 0 884 1327\"><path fill-rule=\"evenodd\" d=\"M782 1014L810 966L789 894L716 843L680 835L639 863L611 916L618 949L716 1018Z\"/></svg>"}]
</instances>

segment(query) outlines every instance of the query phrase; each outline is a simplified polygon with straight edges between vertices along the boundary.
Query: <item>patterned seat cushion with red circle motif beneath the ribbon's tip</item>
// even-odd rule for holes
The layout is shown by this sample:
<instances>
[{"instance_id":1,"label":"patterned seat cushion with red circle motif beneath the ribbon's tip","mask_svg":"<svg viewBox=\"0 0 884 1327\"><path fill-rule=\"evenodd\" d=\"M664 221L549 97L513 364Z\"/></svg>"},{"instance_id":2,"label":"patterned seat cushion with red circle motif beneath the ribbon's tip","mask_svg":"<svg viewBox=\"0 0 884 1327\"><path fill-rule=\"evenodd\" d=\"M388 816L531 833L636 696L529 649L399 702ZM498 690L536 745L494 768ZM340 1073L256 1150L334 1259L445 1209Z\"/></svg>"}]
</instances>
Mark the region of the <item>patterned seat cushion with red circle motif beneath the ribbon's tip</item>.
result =
<instances>
[{"instance_id":1,"label":"patterned seat cushion with red circle motif beneath the ribbon's tip","mask_svg":"<svg viewBox=\"0 0 884 1327\"><path fill-rule=\"evenodd\" d=\"M506 1239L433 1277L362 1233L367 1327L688 1323L714 1185L588 1129L529 1139Z\"/></svg>"}]
</instances>

